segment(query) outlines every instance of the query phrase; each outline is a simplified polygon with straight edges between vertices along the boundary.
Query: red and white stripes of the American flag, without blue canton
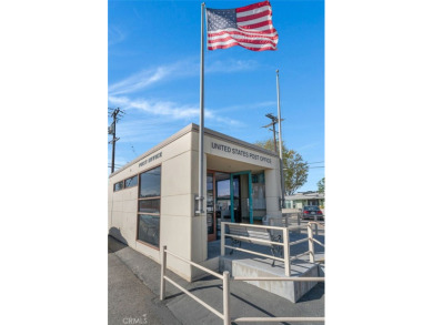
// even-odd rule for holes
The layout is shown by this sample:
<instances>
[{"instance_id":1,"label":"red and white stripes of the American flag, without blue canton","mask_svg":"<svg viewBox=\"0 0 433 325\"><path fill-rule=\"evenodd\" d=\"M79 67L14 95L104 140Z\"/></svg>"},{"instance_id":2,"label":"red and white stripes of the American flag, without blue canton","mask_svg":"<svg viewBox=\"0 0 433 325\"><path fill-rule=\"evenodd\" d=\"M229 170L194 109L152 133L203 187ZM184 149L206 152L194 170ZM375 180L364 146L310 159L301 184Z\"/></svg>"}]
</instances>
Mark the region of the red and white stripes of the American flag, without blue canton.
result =
<instances>
[{"instance_id":1,"label":"red and white stripes of the American flag, without blue canton","mask_svg":"<svg viewBox=\"0 0 433 325\"><path fill-rule=\"evenodd\" d=\"M272 24L269 1L236 8L238 29L208 32L208 50L240 45L252 51L276 50L279 35Z\"/></svg>"}]
</instances>

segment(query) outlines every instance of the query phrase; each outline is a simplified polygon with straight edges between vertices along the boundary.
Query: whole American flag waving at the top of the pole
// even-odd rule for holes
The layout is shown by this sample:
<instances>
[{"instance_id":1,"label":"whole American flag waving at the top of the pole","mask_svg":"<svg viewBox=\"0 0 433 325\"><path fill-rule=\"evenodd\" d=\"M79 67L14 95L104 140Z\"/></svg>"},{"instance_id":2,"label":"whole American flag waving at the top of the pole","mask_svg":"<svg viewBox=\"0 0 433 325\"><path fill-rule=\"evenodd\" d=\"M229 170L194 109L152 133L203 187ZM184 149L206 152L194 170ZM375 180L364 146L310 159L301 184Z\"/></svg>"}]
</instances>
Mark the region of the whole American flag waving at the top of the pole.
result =
<instances>
[{"instance_id":1,"label":"whole American flag waving at the top of the pole","mask_svg":"<svg viewBox=\"0 0 433 325\"><path fill-rule=\"evenodd\" d=\"M251 51L276 50L279 34L269 1L235 9L207 9L208 50L240 45Z\"/></svg>"}]
</instances>

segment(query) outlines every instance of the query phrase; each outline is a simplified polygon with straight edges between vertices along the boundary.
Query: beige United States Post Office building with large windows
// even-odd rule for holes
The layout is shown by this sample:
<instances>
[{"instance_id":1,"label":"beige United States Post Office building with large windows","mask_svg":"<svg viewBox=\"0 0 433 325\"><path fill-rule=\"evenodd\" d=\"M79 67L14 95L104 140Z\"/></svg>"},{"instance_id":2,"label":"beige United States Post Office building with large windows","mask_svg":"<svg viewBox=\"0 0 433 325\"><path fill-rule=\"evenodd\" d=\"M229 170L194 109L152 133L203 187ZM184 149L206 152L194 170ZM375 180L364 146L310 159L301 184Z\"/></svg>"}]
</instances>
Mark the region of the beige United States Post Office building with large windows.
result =
<instances>
[{"instance_id":1,"label":"beige United States Post Office building with large windows","mask_svg":"<svg viewBox=\"0 0 433 325\"><path fill-rule=\"evenodd\" d=\"M109 177L109 233L160 262L160 247L205 265L221 221L261 223L281 216L275 152L204 129L204 213L197 213L199 126L190 124ZM168 268L188 281L195 267L177 258Z\"/></svg>"}]
</instances>

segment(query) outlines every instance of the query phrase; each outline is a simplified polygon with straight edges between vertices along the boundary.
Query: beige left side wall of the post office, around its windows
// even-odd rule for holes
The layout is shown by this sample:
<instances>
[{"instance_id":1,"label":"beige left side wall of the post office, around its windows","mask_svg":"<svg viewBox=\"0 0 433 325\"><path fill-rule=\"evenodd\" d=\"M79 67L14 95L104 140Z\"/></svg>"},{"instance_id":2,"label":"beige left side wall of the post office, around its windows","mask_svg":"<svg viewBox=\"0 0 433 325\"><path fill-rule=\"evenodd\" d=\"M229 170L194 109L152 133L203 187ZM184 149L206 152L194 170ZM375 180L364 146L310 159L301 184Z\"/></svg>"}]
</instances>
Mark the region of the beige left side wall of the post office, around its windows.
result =
<instances>
[{"instance_id":1,"label":"beige left side wall of the post office, around its windows","mask_svg":"<svg viewBox=\"0 0 433 325\"><path fill-rule=\"evenodd\" d=\"M140 163L162 152L162 156L140 166ZM109 228L114 227L127 244L160 262L160 251L135 241L138 220L138 186L112 192L113 184L161 165L160 247L168 246L180 256L191 258L191 133L167 143L159 150L142 155L137 162L110 177ZM115 236L115 233L114 233ZM167 265L182 277L191 277L185 263L168 256Z\"/></svg>"}]
</instances>

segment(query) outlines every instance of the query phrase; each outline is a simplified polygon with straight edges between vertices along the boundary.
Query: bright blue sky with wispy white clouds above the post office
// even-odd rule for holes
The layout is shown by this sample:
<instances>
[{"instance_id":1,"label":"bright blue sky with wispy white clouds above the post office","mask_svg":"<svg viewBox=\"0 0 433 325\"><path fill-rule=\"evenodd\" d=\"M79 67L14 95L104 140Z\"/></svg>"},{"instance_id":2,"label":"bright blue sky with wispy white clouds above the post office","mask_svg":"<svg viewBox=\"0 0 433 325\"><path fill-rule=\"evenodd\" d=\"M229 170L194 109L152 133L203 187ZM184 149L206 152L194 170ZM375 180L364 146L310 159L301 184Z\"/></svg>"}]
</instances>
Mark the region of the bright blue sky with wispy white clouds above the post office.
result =
<instances>
[{"instance_id":1,"label":"bright blue sky with wispy white clouds above the post office","mask_svg":"<svg viewBox=\"0 0 433 325\"><path fill-rule=\"evenodd\" d=\"M108 105L125 111L117 129L117 166L199 124L201 2L109 1ZM229 9L254 2L205 3ZM324 163L316 163L324 161L324 2L271 4L276 51L205 50L204 123L251 143L271 139L262 126L270 122L266 113L276 115L279 69L283 140L313 163L299 191L314 191L324 176Z\"/></svg>"}]
</instances>

